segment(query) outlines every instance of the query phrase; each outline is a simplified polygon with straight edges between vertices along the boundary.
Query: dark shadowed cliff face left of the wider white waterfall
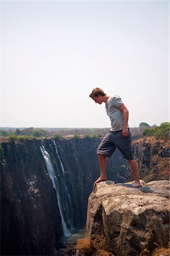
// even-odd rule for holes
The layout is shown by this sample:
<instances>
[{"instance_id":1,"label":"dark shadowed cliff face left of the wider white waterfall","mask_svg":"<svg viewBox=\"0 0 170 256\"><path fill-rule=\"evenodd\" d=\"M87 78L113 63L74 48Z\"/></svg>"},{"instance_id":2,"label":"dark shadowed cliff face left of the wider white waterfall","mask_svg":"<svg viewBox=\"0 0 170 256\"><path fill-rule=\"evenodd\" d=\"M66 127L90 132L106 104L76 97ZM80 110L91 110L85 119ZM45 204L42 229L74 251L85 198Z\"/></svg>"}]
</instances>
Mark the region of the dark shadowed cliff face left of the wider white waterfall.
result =
<instances>
[{"instance_id":1,"label":"dark shadowed cliff face left of the wider white waterfall","mask_svg":"<svg viewBox=\"0 0 170 256\"><path fill-rule=\"evenodd\" d=\"M5 143L1 162L1 255L55 254L57 197L37 141Z\"/></svg>"}]
</instances>

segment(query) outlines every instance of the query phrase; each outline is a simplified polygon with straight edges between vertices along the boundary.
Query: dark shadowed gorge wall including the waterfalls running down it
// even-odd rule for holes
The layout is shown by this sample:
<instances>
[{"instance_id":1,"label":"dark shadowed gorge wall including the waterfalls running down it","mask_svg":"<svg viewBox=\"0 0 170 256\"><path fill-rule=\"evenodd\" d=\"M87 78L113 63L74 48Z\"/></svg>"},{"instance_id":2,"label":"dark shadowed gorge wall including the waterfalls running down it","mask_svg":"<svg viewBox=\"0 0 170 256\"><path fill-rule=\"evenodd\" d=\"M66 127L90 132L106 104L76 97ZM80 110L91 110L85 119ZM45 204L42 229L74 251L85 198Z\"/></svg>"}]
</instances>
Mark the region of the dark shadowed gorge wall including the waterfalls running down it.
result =
<instances>
[{"instance_id":1,"label":"dark shadowed gorge wall including the waterfalls running down it","mask_svg":"<svg viewBox=\"0 0 170 256\"><path fill-rule=\"evenodd\" d=\"M87 200L99 176L99 138L2 143L1 255L55 255L64 234L85 225ZM108 177L125 180L115 152Z\"/></svg>"}]
</instances>

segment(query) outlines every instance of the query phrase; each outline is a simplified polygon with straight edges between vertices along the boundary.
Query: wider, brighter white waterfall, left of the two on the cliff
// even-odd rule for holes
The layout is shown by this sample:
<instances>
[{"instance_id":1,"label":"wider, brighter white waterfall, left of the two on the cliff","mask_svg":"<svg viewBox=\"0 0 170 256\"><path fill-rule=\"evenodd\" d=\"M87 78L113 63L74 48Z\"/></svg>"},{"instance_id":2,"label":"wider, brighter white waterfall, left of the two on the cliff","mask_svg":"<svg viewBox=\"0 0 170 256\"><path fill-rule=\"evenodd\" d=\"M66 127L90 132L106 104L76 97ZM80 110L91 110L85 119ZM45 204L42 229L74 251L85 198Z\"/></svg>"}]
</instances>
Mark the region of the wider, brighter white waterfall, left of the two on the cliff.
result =
<instances>
[{"instance_id":1,"label":"wider, brighter white waterfall, left of the two on the cliff","mask_svg":"<svg viewBox=\"0 0 170 256\"><path fill-rule=\"evenodd\" d=\"M52 161L50 160L50 156L49 156L48 152L45 150L45 147L42 143L41 143L40 149L41 149L42 155L43 155L44 160L45 160L46 169L48 171L49 177L52 180L53 188L56 189L58 208L59 208L59 213L61 215L61 224L62 224L62 229L63 229L63 236L69 237L71 235L71 233L70 233L69 229L67 229L66 222L65 222L65 219L63 217L62 198L60 196L57 177L54 173L54 168L53 168L53 165L52 165Z\"/></svg>"}]
</instances>

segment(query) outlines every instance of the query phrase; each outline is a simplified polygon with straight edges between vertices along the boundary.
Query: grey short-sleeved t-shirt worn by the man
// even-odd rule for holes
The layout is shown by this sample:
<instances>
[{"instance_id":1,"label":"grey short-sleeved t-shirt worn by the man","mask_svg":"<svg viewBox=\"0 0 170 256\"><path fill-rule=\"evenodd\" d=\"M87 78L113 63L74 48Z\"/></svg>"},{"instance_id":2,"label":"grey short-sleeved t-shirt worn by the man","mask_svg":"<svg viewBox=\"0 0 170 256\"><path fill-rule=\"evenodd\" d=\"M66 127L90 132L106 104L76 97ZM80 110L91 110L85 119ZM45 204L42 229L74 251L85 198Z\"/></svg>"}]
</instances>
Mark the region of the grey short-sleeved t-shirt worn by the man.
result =
<instances>
[{"instance_id":1,"label":"grey short-sleeved t-shirt worn by the man","mask_svg":"<svg viewBox=\"0 0 170 256\"><path fill-rule=\"evenodd\" d=\"M111 119L111 131L120 131L123 129L124 117L121 110L118 109L122 104L123 102L118 95L109 96L105 104L105 110Z\"/></svg>"}]
</instances>

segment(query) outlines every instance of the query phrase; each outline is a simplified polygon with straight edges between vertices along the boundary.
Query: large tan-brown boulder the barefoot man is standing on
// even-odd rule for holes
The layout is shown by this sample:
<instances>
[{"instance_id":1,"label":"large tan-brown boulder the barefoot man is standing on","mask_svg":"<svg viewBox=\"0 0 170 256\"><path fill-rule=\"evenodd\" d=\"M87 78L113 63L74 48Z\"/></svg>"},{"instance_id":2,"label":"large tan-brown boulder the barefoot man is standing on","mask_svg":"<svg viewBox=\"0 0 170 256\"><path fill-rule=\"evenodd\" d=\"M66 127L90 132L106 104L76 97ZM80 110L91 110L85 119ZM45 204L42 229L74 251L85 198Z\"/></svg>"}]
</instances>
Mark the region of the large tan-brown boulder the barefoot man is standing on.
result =
<instances>
[{"instance_id":1,"label":"large tan-brown boulder the barefoot man is standing on","mask_svg":"<svg viewBox=\"0 0 170 256\"><path fill-rule=\"evenodd\" d=\"M104 236L116 256L139 255L169 241L169 181L132 188L111 180L97 183L88 199L86 237ZM97 255L97 254L96 254Z\"/></svg>"}]
</instances>

